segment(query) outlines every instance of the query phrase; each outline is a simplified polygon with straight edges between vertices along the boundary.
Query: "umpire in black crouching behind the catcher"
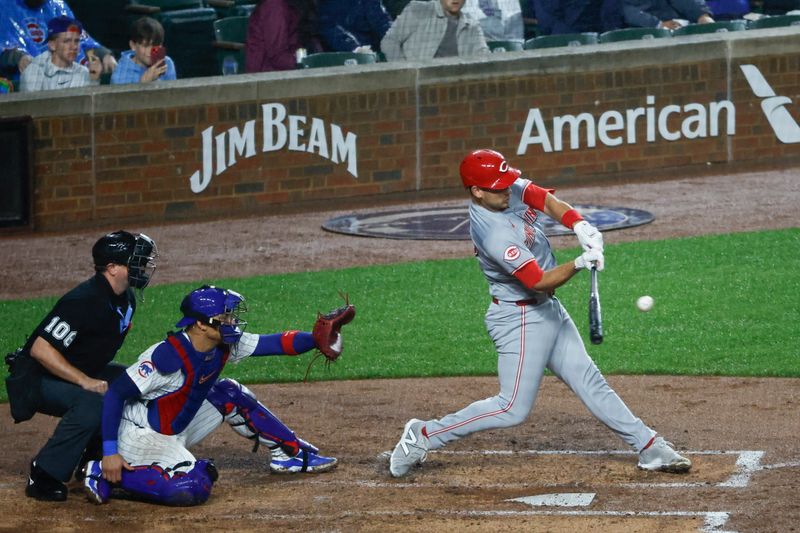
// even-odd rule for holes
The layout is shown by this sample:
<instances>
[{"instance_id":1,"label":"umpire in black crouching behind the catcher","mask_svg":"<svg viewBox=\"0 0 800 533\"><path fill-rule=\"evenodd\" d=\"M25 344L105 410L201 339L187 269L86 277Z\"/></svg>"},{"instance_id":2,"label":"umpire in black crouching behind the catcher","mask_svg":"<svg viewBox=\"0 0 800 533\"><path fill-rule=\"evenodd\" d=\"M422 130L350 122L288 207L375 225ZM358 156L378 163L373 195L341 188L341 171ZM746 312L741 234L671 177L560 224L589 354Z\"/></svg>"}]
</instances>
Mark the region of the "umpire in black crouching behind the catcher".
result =
<instances>
[{"instance_id":1,"label":"umpire in black crouching behind the catcher","mask_svg":"<svg viewBox=\"0 0 800 533\"><path fill-rule=\"evenodd\" d=\"M66 500L64 482L84 450L91 454L99 446L103 394L125 371L111 361L131 329L134 289L141 299L157 255L155 242L142 233L101 237L92 248L95 275L61 297L25 346L9 355L6 385L14 420L37 412L61 418L31 461L29 497Z\"/></svg>"}]
</instances>

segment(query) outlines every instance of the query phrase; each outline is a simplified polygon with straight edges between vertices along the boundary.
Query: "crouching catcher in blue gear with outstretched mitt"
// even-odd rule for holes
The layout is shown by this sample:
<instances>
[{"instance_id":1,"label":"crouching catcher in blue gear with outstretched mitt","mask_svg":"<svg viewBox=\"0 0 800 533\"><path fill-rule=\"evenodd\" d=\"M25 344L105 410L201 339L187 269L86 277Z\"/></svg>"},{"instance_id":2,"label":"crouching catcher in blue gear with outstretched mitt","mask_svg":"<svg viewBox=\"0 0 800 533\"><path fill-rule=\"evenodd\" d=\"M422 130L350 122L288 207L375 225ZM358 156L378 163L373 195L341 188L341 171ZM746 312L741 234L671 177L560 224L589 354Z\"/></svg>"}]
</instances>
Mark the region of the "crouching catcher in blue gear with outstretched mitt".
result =
<instances>
[{"instance_id":1,"label":"crouching catcher in blue gear with outstretched mitt","mask_svg":"<svg viewBox=\"0 0 800 533\"><path fill-rule=\"evenodd\" d=\"M166 340L145 350L109 387L103 401L103 459L90 461L84 486L90 501L108 501L111 488L166 505L204 503L217 479L210 460L189 449L223 421L265 445L274 473L327 472L336 459L295 433L247 387L219 379L227 362L249 355L297 355L317 348L328 360L342 353L342 326L355 316L344 306L320 315L313 332L244 333L244 297L205 285L181 303L183 318Z\"/></svg>"}]
</instances>

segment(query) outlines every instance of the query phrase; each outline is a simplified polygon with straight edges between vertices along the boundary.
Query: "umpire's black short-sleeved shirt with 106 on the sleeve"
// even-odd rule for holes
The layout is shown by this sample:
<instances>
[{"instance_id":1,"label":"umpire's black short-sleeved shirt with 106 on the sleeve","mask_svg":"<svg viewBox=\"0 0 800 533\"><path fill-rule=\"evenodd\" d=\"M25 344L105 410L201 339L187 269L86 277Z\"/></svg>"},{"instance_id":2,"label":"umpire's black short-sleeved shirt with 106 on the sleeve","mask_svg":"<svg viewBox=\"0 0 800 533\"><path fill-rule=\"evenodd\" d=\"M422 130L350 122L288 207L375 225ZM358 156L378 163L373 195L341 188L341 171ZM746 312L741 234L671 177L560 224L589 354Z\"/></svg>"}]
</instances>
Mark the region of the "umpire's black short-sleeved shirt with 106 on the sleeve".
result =
<instances>
[{"instance_id":1,"label":"umpire's black short-sleeved shirt with 106 on the sleeve","mask_svg":"<svg viewBox=\"0 0 800 533\"><path fill-rule=\"evenodd\" d=\"M30 353L36 337L49 342L74 367L97 377L122 346L132 326L133 290L114 294L108 280L95 274L56 302L25 344Z\"/></svg>"}]
</instances>

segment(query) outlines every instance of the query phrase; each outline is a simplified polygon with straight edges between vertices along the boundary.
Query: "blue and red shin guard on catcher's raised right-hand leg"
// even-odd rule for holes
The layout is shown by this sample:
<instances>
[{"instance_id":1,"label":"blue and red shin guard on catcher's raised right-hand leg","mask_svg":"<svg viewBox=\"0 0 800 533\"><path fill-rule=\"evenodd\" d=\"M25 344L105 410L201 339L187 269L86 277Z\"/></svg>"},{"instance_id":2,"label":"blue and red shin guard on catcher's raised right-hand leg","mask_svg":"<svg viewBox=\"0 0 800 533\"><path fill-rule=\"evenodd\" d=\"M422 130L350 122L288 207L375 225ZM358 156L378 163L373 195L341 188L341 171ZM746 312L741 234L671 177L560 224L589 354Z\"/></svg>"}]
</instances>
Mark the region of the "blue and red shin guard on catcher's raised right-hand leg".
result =
<instances>
[{"instance_id":1,"label":"blue and red shin guard on catcher's raised right-hand leg","mask_svg":"<svg viewBox=\"0 0 800 533\"><path fill-rule=\"evenodd\" d=\"M221 379L215 383L208 393L208 401L237 433L255 440L254 450L258 448L259 442L267 441L267 445L277 444L291 457L300 450L319 453L319 449L298 438L247 387L235 380Z\"/></svg>"}]
</instances>

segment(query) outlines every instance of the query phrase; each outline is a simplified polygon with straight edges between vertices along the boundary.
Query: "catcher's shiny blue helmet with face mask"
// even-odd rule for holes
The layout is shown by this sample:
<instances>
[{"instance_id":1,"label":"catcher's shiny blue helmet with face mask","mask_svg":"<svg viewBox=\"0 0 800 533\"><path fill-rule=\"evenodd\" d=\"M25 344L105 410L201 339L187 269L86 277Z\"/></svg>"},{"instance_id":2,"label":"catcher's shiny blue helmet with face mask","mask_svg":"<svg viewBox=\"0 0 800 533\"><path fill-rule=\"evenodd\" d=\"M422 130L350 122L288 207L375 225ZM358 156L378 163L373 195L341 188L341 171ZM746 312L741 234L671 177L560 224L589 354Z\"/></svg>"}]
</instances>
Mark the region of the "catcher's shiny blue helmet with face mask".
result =
<instances>
[{"instance_id":1,"label":"catcher's shiny blue helmet with face mask","mask_svg":"<svg viewBox=\"0 0 800 533\"><path fill-rule=\"evenodd\" d=\"M203 285L190 292L181 302L183 318L176 328L186 328L198 320L219 328L222 342L236 344L247 327L241 314L247 311L244 296L238 292Z\"/></svg>"}]
</instances>

